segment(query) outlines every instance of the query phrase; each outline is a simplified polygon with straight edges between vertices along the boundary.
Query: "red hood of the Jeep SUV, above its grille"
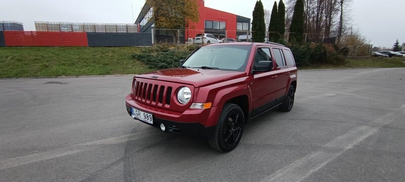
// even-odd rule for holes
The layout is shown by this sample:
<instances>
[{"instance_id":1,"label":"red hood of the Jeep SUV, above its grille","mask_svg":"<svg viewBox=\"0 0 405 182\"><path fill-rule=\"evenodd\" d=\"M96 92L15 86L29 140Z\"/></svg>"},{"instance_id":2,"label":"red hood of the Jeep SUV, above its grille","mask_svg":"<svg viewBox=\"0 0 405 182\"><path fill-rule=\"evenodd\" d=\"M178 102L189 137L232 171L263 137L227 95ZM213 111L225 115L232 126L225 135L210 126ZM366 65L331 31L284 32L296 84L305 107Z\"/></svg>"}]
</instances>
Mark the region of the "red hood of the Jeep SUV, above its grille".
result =
<instances>
[{"instance_id":1,"label":"red hood of the Jeep SUV, above its grille","mask_svg":"<svg viewBox=\"0 0 405 182\"><path fill-rule=\"evenodd\" d=\"M185 83L193 85L197 88L240 78L243 76L246 76L246 73L211 69L176 68L158 70L142 75L136 75L135 77L151 80L169 81L175 83Z\"/></svg>"}]
</instances>

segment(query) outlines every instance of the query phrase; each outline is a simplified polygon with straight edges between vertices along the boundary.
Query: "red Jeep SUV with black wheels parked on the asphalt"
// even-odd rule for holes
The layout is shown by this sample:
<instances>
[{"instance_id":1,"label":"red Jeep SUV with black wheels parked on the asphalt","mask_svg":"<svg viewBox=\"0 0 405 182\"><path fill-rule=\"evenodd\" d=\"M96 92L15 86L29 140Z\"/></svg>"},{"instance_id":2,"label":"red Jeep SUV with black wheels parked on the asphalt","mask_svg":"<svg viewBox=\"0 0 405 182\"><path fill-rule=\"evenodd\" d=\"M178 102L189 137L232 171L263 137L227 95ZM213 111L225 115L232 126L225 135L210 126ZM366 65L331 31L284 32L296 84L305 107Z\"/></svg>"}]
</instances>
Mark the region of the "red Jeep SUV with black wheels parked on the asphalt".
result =
<instances>
[{"instance_id":1,"label":"red Jeep SUV with black wheels parked on the asphalt","mask_svg":"<svg viewBox=\"0 0 405 182\"><path fill-rule=\"evenodd\" d=\"M278 107L290 111L297 88L291 50L281 44L224 43L196 49L180 68L136 75L128 113L164 132L205 137L231 151L244 125Z\"/></svg>"}]
</instances>

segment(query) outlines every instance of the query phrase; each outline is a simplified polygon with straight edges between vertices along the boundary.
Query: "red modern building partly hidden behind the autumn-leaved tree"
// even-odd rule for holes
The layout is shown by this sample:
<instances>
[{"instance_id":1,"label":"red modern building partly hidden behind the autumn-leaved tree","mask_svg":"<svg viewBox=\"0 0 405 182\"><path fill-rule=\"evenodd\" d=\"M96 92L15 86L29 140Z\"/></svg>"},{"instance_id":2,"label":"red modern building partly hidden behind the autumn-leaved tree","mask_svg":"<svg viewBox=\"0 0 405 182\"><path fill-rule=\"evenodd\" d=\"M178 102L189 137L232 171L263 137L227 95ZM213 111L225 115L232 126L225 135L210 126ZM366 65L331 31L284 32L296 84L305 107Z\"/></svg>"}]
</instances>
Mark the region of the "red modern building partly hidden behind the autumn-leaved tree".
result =
<instances>
[{"instance_id":1,"label":"red modern building partly hidden behind the autumn-leaved tree","mask_svg":"<svg viewBox=\"0 0 405 182\"><path fill-rule=\"evenodd\" d=\"M204 0L197 1L199 21L189 23L189 27L185 27L185 39L193 38L198 33L210 33L220 39L224 37L236 39L238 35L249 34L247 32L251 29L250 18L208 8L205 7ZM135 24L138 25L139 32L151 31L154 28L153 7L145 3Z\"/></svg>"}]
</instances>

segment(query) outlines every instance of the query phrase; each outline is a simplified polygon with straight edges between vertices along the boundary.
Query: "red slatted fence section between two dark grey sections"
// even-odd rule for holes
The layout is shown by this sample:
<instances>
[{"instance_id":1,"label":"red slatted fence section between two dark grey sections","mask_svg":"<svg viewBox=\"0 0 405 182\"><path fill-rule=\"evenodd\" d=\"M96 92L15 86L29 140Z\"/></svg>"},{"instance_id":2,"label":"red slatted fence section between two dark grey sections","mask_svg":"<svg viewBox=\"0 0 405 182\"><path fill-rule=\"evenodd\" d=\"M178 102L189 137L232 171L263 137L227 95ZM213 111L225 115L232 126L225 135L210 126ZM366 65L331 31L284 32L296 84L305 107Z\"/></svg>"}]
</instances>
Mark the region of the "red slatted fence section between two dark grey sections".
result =
<instances>
[{"instance_id":1,"label":"red slatted fence section between two dark grey sections","mask_svg":"<svg viewBox=\"0 0 405 182\"><path fill-rule=\"evenodd\" d=\"M5 31L6 46L88 46L86 32Z\"/></svg>"}]
</instances>

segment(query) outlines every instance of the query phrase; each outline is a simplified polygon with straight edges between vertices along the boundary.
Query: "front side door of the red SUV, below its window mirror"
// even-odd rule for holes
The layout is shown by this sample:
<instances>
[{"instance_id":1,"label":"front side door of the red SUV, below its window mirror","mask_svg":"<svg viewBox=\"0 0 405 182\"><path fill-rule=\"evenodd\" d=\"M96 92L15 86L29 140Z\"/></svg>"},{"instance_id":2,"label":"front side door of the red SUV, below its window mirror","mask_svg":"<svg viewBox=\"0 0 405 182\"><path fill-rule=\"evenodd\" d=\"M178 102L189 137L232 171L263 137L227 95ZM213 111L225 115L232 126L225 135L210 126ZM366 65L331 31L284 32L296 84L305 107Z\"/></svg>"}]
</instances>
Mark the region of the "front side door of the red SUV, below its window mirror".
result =
<instances>
[{"instance_id":1,"label":"front side door of the red SUV, below its window mirror","mask_svg":"<svg viewBox=\"0 0 405 182\"><path fill-rule=\"evenodd\" d=\"M257 47L254 56L254 66L262 60L271 61L270 48ZM273 64L274 67L274 64ZM252 92L252 116L255 116L275 105L277 76L271 71L252 73L250 88Z\"/></svg>"}]
</instances>

